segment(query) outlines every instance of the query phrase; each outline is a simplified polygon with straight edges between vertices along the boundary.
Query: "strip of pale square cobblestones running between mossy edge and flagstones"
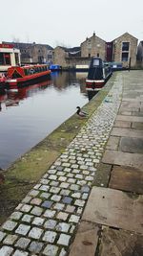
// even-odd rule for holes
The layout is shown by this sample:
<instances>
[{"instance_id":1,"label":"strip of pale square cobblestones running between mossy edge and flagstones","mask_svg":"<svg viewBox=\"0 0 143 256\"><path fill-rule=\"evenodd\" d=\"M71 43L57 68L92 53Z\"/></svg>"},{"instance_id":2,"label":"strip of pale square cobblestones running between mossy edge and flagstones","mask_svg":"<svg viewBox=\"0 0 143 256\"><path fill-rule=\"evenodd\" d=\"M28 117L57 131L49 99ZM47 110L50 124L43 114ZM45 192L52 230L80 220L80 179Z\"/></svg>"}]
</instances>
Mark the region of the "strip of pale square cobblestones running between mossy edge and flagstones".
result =
<instances>
[{"instance_id":1,"label":"strip of pale square cobblestones running between mossy edge and flagstones","mask_svg":"<svg viewBox=\"0 0 143 256\"><path fill-rule=\"evenodd\" d=\"M0 256L67 255L120 105L122 75L0 230ZM102 184L101 184L102 186Z\"/></svg>"}]
</instances>

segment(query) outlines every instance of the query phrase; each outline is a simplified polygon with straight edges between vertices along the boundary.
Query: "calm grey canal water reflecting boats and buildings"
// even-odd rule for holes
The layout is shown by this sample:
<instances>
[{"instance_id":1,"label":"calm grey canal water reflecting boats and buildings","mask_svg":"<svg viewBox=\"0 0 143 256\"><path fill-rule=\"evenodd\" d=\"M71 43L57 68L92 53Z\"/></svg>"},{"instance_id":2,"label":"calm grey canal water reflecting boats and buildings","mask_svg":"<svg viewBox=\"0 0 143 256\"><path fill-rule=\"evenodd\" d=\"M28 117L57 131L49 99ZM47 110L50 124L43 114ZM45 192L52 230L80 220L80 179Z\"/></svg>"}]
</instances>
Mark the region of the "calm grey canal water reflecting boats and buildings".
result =
<instances>
[{"instance_id":1,"label":"calm grey canal water reflecting boats and buildings","mask_svg":"<svg viewBox=\"0 0 143 256\"><path fill-rule=\"evenodd\" d=\"M51 81L0 94L0 168L7 169L89 102L86 73L52 73Z\"/></svg>"}]
</instances>

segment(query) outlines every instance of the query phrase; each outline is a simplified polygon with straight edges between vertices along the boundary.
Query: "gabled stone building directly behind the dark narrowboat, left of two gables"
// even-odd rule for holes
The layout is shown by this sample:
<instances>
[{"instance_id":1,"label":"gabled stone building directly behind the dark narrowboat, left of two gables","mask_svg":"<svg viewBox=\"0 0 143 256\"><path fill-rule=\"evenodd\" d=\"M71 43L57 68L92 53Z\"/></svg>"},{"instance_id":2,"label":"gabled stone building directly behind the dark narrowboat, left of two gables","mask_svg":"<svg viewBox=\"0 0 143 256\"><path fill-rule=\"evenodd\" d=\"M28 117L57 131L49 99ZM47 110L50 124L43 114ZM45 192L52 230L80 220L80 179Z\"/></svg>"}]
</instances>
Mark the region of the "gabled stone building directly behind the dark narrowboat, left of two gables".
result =
<instances>
[{"instance_id":1,"label":"gabled stone building directly behind the dark narrowboat, left of two gables","mask_svg":"<svg viewBox=\"0 0 143 256\"><path fill-rule=\"evenodd\" d=\"M106 41L93 33L92 37L81 43L81 58L91 58L96 56L105 60L106 58Z\"/></svg>"}]
</instances>

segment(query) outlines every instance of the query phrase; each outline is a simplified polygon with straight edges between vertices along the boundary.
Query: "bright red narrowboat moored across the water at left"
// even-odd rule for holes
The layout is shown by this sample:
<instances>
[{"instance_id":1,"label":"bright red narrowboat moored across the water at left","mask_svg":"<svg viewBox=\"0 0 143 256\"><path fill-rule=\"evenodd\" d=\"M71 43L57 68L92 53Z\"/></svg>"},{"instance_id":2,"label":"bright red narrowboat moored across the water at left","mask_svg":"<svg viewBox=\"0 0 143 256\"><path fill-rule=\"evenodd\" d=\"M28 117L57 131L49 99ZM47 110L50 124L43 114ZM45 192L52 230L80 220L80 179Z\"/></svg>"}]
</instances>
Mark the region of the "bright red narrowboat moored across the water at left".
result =
<instances>
[{"instance_id":1,"label":"bright red narrowboat moored across the water at left","mask_svg":"<svg viewBox=\"0 0 143 256\"><path fill-rule=\"evenodd\" d=\"M46 64L12 66L7 73L7 87L15 88L51 79L51 70Z\"/></svg>"}]
</instances>

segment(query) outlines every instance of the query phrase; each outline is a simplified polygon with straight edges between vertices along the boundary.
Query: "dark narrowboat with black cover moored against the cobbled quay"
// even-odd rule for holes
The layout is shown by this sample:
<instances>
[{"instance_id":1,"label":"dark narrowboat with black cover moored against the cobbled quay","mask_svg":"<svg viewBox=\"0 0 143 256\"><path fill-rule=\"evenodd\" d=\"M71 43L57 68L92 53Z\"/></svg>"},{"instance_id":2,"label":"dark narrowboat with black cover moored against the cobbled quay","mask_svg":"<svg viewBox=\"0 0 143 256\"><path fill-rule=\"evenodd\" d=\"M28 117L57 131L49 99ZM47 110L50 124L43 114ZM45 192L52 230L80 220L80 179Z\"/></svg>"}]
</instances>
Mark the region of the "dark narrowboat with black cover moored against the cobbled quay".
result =
<instances>
[{"instance_id":1,"label":"dark narrowboat with black cover moored against the cobbled quay","mask_svg":"<svg viewBox=\"0 0 143 256\"><path fill-rule=\"evenodd\" d=\"M111 67L105 64L101 58L92 57L88 78L86 79L86 89L89 91L101 90L111 76Z\"/></svg>"}]
</instances>

